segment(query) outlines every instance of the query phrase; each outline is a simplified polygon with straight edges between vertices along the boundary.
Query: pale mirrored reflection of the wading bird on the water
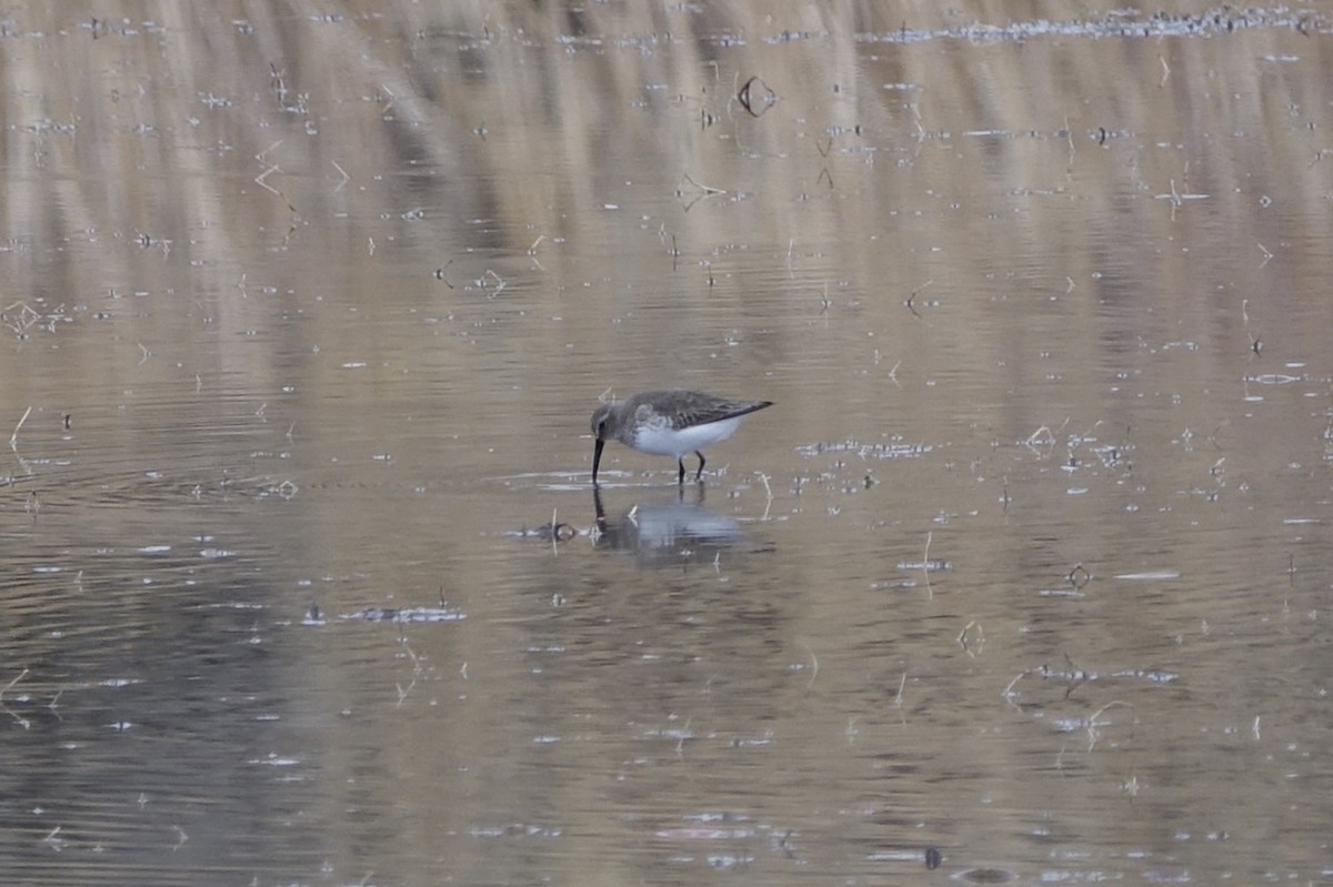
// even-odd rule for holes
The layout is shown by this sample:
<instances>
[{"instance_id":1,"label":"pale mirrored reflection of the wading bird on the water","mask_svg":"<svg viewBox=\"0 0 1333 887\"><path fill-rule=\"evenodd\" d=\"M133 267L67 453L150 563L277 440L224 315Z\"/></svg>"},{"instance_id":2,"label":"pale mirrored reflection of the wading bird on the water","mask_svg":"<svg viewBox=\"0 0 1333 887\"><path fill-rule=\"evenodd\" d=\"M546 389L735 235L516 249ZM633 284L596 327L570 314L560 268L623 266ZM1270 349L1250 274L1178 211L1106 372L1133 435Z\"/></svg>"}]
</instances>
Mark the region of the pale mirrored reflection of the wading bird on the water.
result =
<instances>
[{"instance_id":1,"label":"pale mirrored reflection of the wading bird on the water","mask_svg":"<svg viewBox=\"0 0 1333 887\"><path fill-rule=\"evenodd\" d=\"M633 551L649 563L712 561L745 539L733 518L704 507L702 485L672 490L668 501L636 505L620 518L607 517L600 489L593 487L592 499L597 547Z\"/></svg>"}]
</instances>

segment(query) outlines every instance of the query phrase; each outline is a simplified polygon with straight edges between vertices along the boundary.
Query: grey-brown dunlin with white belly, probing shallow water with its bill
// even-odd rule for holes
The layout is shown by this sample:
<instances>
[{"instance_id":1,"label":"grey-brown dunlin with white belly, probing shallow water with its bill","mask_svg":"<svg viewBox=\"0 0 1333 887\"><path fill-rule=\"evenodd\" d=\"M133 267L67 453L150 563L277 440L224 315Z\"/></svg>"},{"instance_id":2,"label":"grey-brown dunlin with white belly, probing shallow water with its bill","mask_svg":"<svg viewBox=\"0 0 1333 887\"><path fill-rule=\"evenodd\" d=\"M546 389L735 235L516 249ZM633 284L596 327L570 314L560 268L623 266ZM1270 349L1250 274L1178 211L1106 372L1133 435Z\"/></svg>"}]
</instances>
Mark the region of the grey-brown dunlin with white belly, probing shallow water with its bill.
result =
<instances>
[{"instance_id":1,"label":"grey-brown dunlin with white belly, probing shallow water with its bill","mask_svg":"<svg viewBox=\"0 0 1333 887\"><path fill-rule=\"evenodd\" d=\"M772 406L772 401L729 401L702 392L666 389L640 392L619 404L603 404L592 414L592 482L597 483L601 447L615 438L640 453L674 455L680 466L678 483L685 482L685 454L698 457L694 479L704 475L702 449L725 441L741 424L741 417Z\"/></svg>"}]
</instances>

